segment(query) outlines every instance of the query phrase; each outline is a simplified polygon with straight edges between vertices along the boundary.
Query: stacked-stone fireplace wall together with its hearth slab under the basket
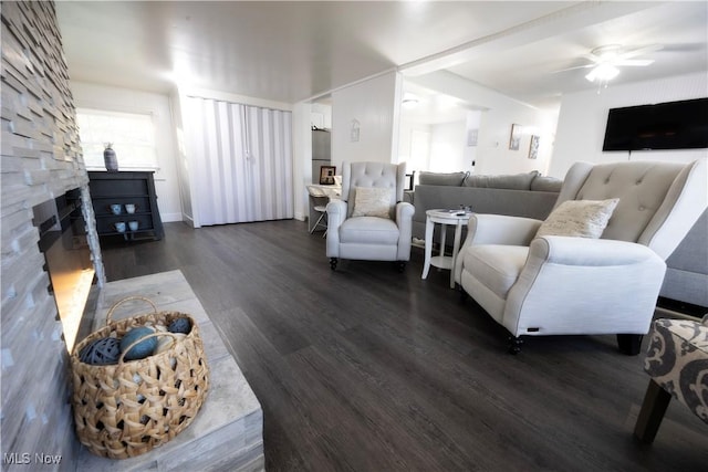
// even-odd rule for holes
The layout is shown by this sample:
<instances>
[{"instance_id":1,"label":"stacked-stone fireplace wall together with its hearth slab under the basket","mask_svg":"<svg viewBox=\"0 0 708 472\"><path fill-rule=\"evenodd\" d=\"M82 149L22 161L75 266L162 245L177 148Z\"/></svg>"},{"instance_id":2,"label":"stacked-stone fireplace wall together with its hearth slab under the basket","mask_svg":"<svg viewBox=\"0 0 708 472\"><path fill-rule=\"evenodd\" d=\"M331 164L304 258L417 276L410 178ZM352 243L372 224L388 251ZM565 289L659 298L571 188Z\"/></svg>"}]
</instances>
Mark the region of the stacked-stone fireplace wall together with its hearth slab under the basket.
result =
<instances>
[{"instance_id":1,"label":"stacked-stone fireplace wall together with its hearth slab under the basket","mask_svg":"<svg viewBox=\"0 0 708 472\"><path fill-rule=\"evenodd\" d=\"M180 285L186 284L181 274L164 274L173 279L163 286L177 290L183 298L167 296L169 290L162 287L153 295L198 315L205 338L210 339L205 343L212 387L202 411L174 441L144 457L111 461L81 449L70 401L69 353L55 300L48 291L50 280L38 244L33 207L72 189L80 192L97 280L84 311L84 325L98 322L93 319L91 305L103 313L103 303L110 302L112 293L134 287L132 281L105 283L54 3L3 2L1 21L1 469L145 470L179 463L198 469L262 470L260 405L196 296L184 298L191 291ZM181 277L179 282L175 276ZM159 280L156 275L149 283ZM139 292L145 292L146 283L139 282ZM51 463L39 462L41 458L50 458Z\"/></svg>"}]
</instances>

